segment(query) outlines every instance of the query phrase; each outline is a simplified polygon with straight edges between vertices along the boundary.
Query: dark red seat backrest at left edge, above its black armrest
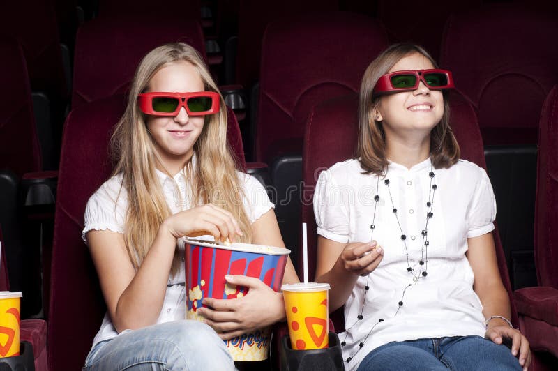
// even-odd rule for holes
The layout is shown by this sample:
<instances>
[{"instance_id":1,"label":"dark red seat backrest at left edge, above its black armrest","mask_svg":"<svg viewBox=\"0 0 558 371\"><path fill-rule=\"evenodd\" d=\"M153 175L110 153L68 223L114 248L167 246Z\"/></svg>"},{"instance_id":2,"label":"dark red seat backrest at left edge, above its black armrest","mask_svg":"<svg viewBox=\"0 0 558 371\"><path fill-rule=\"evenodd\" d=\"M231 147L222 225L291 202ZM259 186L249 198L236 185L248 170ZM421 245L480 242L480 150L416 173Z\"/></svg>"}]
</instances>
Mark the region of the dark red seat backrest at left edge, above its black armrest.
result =
<instances>
[{"instance_id":1,"label":"dark red seat backrest at left edge, above its black armrest","mask_svg":"<svg viewBox=\"0 0 558 371\"><path fill-rule=\"evenodd\" d=\"M2 68L0 86L0 169L9 168L17 176L41 169L31 86L22 47L15 38L0 37Z\"/></svg>"}]
</instances>

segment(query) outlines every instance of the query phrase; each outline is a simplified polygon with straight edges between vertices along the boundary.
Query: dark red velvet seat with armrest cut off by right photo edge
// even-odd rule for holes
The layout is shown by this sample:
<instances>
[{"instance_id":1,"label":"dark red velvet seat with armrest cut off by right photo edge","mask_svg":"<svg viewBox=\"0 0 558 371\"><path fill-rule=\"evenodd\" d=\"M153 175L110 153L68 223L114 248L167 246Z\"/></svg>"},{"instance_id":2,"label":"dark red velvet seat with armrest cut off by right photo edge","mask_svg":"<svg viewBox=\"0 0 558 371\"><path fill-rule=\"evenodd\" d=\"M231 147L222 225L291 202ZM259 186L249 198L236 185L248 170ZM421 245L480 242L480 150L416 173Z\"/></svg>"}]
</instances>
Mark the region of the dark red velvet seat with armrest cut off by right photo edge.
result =
<instances>
[{"instance_id":1,"label":"dark red velvet seat with armrest cut off by right photo edge","mask_svg":"<svg viewBox=\"0 0 558 371\"><path fill-rule=\"evenodd\" d=\"M538 287L518 289L514 296L520 327L531 348L550 353L554 365L558 365L558 85L545 101L538 134L535 213ZM548 354L536 355L550 358Z\"/></svg>"}]
</instances>

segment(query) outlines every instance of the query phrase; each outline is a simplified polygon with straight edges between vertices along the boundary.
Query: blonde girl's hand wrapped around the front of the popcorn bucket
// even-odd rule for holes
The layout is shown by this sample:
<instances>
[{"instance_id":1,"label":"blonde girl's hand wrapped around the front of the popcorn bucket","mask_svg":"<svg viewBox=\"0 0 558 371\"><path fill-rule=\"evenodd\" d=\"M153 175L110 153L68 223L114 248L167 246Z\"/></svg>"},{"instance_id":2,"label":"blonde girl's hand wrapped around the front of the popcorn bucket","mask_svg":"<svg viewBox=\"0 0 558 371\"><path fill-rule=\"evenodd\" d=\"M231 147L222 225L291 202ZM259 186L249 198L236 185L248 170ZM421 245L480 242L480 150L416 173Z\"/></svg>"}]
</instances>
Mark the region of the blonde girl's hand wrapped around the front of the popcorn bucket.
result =
<instances>
[{"instance_id":1,"label":"blonde girl's hand wrapped around the front of the popcorn bucket","mask_svg":"<svg viewBox=\"0 0 558 371\"><path fill-rule=\"evenodd\" d=\"M248 287L248 294L234 299L204 298L202 303L213 309L197 310L221 339L229 340L285 318L282 294L261 280L246 275L225 275L225 279L233 285Z\"/></svg>"}]
</instances>

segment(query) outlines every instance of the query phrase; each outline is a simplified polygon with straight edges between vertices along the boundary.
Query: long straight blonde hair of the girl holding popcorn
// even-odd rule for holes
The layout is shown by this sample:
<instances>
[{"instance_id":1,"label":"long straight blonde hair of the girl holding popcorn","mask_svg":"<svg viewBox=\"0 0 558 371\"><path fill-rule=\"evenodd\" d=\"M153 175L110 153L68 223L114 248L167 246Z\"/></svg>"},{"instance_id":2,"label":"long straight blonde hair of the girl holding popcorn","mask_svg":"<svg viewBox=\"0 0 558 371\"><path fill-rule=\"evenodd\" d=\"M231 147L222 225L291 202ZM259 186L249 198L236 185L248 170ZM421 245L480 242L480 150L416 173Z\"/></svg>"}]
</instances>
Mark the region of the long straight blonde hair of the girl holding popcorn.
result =
<instances>
[{"instance_id":1,"label":"long straight blonde hair of the girl holding popcorn","mask_svg":"<svg viewBox=\"0 0 558 371\"><path fill-rule=\"evenodd\" d=\"M185 43L157 47L146 54L137 67L126 112L116 124L110 140L116 162L112 175L122 174L122 187L128 195L124 239L136 270L149 251L161 223L171 214L156 174L157 165L164 168L163 161L149 134L137 96L149 88L151 78L160 68L177 61L192 64L204 82L204 89L219 93L202 57L193 47ZM191 159L185 164L186 181L193 190L190 206L211 202L231 212L243 232L241 241L250 242L250 221L243 208L245 195L236 174L238 165L227 143L227 109L222 96L218 114L205 116L202 133L194 144L194 153L196 164L193 166ZM174 174L167 171L167 175L172 177ZM173 275L178 271L179 261L175 255L171 269Z\"/></svg>"}]
</instances>

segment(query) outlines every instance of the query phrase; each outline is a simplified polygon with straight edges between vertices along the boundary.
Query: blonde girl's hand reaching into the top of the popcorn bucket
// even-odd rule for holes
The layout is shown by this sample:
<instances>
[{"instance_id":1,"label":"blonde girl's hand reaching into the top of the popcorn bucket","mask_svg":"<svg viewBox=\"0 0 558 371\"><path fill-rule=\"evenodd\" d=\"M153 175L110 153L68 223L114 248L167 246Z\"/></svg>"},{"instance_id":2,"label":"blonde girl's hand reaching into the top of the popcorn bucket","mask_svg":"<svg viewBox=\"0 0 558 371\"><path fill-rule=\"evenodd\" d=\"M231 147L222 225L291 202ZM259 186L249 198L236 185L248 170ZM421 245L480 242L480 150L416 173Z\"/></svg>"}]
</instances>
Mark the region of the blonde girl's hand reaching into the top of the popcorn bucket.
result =
<instances>
[{"instance_id":1,"label":"blonde girl's hand reaching into the top of the popcorn bucket","mask_svg":"<svg viewBox=\"0 0 558 371\"><path fill-rule=\"evenodd\" d=\"M239 223L232 213L213 204L197 206L171 215L163 222L163 227L176 239L211 234L216 241L234 241L236 236L242 236Z\"/></svg>"}]
</instances>

